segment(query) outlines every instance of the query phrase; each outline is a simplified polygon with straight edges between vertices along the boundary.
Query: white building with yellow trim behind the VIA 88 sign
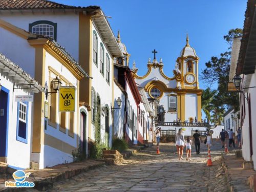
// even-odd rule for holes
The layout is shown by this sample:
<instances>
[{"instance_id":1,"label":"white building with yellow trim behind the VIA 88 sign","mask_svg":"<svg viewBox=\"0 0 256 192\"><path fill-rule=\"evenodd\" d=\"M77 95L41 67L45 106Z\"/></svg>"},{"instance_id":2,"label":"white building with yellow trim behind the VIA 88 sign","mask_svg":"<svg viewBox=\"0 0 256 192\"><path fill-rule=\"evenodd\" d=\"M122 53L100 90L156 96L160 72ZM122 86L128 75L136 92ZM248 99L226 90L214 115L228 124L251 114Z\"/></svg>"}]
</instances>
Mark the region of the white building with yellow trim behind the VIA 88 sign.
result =
<instances>
[{"instance_id":1,"label":"white building with yellow trim behind the VIA 88 sign","mask_svg":"<svg viewBox=\"0 0 256 192\"><path fill-rule=\"evenodd\" d=\"M0 52L30 71L32 78L45 87L45 93L38 93L33 100L30 161L39 168L72 162L72 151L79 145L79 81L86 72L54 40L26 32L2 19L0 33ZM61 99L63 95L51 83L56 79L61 82L60 89L73 89L71 95L66 96L69 92L65 90ZM62 109L71 103L72 110Z\"/></svg>"}]
</instances>

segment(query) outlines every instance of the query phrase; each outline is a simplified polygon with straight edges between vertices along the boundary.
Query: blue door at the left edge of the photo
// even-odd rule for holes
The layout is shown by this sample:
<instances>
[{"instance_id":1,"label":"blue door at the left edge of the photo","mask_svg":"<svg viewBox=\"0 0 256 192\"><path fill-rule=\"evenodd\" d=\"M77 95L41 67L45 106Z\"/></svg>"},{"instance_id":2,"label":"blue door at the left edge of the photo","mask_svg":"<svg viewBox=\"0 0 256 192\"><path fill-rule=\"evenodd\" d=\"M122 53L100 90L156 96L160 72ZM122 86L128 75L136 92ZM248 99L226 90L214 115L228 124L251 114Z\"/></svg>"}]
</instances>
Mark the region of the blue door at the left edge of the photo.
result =
<instances>
[{"instance_id":1,"label":"blue door at the left edge of the photo","mask_svg":"<svg viewBox=\"0 0 256 192\"><path fill-rule=\"evenodd\" d=\"M2 87L0 91L0 157L7 157L8 96L9 90Z\"/></svg>"}]
</instances>

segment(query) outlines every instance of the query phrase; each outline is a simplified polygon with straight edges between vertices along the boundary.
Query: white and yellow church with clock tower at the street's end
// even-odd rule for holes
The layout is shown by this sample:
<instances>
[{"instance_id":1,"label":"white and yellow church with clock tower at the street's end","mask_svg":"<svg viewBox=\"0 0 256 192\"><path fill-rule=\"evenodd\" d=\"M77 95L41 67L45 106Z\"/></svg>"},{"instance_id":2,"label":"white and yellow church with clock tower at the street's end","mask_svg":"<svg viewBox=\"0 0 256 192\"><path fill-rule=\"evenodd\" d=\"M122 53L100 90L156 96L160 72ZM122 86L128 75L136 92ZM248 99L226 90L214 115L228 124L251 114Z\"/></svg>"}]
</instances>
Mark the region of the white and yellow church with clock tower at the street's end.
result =
<instances>
[{"instance_id":1,"label":"white and yellow church with clock tower at the street's end","mask_svg":"<svg viewBox=\"0 0 256 192\"><path fill-rule=\"evenodd\" d=\"M189 126L186 135L191 135L193 129L205 131L206 123L202 123L201 113L203 90L199 88L198 79L199 57L195 49L190 47L188 35L186 45L176 60L173 77L164 74L162 59L156 59L156 50L153 53L154 59L148 59L147 73L144 76L137 74L138 68L135 63L132 71L136 83L144 88L147 98L158 101L155 124L162 130Z\"/></svg>"}]
</instances>

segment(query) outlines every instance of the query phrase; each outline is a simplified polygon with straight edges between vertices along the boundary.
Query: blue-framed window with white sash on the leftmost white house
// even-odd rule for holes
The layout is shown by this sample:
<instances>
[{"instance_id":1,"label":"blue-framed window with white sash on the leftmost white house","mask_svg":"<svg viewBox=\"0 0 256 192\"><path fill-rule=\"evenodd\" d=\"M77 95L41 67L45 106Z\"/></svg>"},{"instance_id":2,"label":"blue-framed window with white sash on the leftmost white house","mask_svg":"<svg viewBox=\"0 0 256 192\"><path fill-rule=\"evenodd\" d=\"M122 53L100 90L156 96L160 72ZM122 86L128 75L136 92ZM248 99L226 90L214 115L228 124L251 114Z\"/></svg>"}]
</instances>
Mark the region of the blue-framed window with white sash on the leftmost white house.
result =
<instances>
[{"instance_id":1,"label":"blue-framed window with white sash on the leftmost white house","mask_svg":"<svg viewBox=\"0 0 256 192\"><path fill-rule=\"evenodd\" d=\"M17 140L27 143L28 102L18 102Z\"/></svg>"}]
</instances>

